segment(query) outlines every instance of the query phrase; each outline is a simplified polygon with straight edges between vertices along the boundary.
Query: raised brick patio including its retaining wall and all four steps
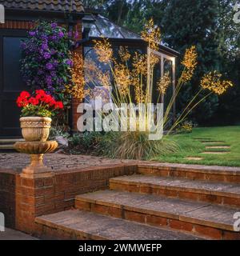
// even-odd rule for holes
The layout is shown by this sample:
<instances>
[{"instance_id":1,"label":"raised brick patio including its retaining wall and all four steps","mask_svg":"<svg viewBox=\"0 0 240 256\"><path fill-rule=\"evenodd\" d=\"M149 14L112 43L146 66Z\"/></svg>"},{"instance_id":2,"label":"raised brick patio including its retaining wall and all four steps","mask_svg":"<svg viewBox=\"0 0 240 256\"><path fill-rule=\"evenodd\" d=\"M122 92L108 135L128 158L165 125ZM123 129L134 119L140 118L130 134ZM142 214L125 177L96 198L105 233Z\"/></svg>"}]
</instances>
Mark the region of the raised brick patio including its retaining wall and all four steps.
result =
<instances>
[{"instance_id":1,"label":"raised brick patio including its retaining wall and all four steps","mask_svg":"<svg viewBox=\"0 0 240 256\"><path fill-rule=\"evenodd\" d=\"M240 168L49 154L52 177L21 178L28 162L0 154L0 211L16 230L66 239L240 238Z\"/></svg>"}]
</instances>

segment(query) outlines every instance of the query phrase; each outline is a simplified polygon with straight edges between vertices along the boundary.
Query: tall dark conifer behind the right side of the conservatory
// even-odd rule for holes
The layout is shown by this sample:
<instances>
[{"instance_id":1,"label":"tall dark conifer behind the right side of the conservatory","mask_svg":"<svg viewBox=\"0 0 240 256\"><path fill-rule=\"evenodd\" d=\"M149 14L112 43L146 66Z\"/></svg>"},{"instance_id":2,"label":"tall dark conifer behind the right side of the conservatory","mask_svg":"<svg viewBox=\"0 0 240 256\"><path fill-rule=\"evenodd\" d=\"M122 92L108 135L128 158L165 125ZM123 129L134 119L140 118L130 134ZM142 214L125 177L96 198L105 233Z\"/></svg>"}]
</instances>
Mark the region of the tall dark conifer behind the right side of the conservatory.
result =
<instances>
[{"instance_id":1,"label":"tall dark conifer behind the right side of the conservatory","mask_svg":"<svg viewBox=\"0 0 240 256\"><path fill-rule=\"evenodd\" d=\"M198 51L198 68L191 81L193 89L190 90L190 86L186 86L178 98L178 110L181 111L198 90L202 75L210 70L218 70L218 42L215 29L218 22L218 1L163 0L158 6L162 8L162 11L158 11L161 17L154 18L162 27L163 41L181 54L192 45L195 45ZM180 60L181 58L182 56ZM199 111L199 107L204 111ZM197 122L206 122L218 107L218 97L211 96L199 107L193 116Z\"/></svg>"}]
</instances>

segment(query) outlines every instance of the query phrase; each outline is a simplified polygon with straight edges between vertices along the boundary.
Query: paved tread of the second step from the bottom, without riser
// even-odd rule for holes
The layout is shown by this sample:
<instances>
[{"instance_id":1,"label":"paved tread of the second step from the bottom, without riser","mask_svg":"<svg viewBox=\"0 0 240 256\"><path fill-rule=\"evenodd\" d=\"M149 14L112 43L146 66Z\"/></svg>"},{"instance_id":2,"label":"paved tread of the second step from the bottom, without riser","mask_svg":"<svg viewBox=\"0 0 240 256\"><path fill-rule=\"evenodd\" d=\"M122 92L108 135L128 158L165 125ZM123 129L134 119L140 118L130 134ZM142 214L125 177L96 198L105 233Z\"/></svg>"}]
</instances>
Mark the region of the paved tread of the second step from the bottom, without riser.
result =
<instances>
[{"instance_id":1,"label":"paved tread of the second step from the bottom, without riser","mask_svg":"<svg viewBox=\"0 0 240 256\"><path fill-rule=\"evenodd\" d=\"M240 209L238 210L226 206L214 206L204 202L114 190L81 194L76 197L76 200L118 207L143 214L154 214L165 218L181 220L182 217L186 217L188 222L201 225L206 224L207 226L218 226L218 228L231 231L234 230L234 213L240 211ZM198 210L201 210L201 214L199 214ZM218 218L216 216L218 216Z\"/></svg>"}]
</instances>

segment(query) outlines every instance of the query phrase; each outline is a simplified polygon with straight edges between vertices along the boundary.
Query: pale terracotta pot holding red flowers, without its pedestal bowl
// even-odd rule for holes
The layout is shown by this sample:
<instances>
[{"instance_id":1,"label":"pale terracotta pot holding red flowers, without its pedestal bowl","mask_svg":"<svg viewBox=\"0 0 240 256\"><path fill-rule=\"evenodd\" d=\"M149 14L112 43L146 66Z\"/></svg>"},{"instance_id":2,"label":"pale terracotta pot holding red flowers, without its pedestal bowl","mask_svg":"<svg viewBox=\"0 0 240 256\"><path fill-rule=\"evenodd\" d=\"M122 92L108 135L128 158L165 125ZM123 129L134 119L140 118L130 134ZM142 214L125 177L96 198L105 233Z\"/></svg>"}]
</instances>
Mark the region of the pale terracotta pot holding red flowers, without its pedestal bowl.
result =
<instances>
[{"instance_id":1,"label":"pale terracotta pot holding red flowers, without its pedestal bowl","mask_svg":"<svg viewBox=\"0 0 240 256\"><path fill-rule=\"evenodd\" d=\"M22 137L26 142L46 142L50 134L51 118L20 118Z\"/></svg>"}]
</instances>

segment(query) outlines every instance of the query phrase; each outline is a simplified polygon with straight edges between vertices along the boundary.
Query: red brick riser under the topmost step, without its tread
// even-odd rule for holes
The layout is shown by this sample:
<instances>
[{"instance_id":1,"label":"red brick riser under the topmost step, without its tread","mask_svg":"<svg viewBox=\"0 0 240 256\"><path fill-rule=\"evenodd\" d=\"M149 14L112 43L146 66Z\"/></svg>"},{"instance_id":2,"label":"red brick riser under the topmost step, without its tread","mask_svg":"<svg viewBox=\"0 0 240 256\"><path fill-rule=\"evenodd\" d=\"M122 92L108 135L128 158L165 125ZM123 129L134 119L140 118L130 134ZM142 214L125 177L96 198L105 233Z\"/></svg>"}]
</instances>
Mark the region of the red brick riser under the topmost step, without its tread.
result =
<instances>
[{"instance_id":1,"label":"red brick riser under the topmost step, without its tread","mask_svg":"<svg viewBox=\"0 0 240 256\"><path fill-rule=\"evenodd\" d=\"M240 184L240 173L234 172L224 172L224 171L205 171L205 170L185 170L181 167L179 168L153 168L153 167L142 167L138 166L138 174L156 175L162 177L178 177L178 178L188 178L192 180L202 180L202 181L213 181L213 182L230 182Z\"/></svg>"}]
</instances>

